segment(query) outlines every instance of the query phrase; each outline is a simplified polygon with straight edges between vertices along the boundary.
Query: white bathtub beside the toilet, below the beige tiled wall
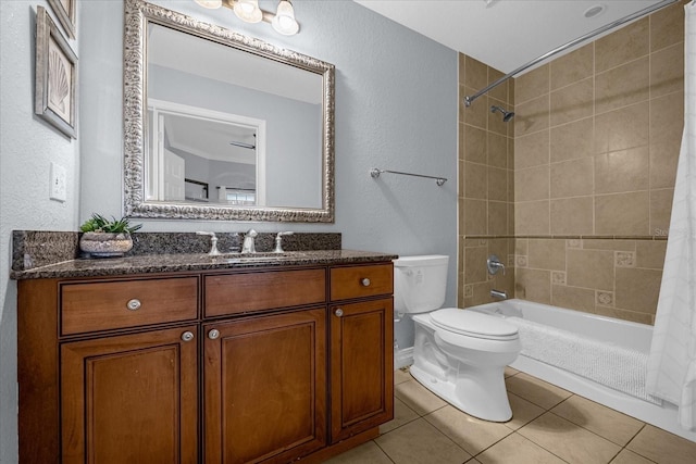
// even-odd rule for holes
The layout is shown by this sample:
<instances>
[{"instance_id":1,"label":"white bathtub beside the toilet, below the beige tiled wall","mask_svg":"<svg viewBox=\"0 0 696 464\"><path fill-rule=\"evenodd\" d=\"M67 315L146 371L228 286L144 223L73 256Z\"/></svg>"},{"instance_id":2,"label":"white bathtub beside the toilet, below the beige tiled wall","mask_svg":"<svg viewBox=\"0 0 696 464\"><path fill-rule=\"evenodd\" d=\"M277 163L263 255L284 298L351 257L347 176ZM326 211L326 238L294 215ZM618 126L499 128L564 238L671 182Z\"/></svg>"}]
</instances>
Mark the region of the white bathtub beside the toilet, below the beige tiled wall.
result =
<instances>
[{"instance_id":1,"label":"white bathtub beside the toilet, below the beige tiled wall","mask_svg":"<svg viewBox=\"0 0 696 464\"><path fill-rule=\"evenodd\" d=\"M614 355L617 351L621 351L633 356L632 360L644 360L650 351L652 326L517 299L471 306L467 310L517 323L520 327L522 353L510 367L696 442L696 432L684 430L678 425L675 405L650 398L636 398L635 394L602 385L601 380L589 378L592 376L583 372L582 366L577 369L572 367L572 362L571 367L564 365L562 360L559 364L552 364L559 361L554 359L552 353L548 361L545 359L546 354L537 353L539 350L543 351L543 348L538 348L539 338L533 339L529 336L527 339L531 341L525 347L525 334L537 330L543 334L540 340L546 340L549 344L555 342L556 337L568 338L577 343L587 343L592 350L598 350L599 353L606 351L607 359L611 358L610 353ZM636 371L639 368L636 367Z\"/></svg>"}]
</instances>

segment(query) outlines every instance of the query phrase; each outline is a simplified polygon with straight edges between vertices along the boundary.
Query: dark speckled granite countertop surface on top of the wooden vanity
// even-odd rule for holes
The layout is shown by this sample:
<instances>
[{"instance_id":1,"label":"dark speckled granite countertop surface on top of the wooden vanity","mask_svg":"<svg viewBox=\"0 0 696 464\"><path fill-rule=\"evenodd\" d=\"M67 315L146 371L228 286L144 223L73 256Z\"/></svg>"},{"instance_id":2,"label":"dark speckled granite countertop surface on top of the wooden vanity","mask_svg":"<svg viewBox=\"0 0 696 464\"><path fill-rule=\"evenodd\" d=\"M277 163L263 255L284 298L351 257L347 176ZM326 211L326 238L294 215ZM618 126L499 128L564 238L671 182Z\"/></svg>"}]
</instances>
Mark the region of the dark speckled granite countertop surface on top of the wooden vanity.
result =
<instances>
[{"instance_id":1,"label":"dark speckled granite countertop surface on top of the wooden vanity","mask_svg":"<svg viewBox=\"0 0 696 464\"><path fill-rule=\"evenodd\" d=\"M125 258L76 259L27 271L13 271L14 279L119 276L147 273L273 267L307 264L351 264L391 261L398 258L357 250L309 250L286 253L144 254Z\"/></svg>"}]
</instances>

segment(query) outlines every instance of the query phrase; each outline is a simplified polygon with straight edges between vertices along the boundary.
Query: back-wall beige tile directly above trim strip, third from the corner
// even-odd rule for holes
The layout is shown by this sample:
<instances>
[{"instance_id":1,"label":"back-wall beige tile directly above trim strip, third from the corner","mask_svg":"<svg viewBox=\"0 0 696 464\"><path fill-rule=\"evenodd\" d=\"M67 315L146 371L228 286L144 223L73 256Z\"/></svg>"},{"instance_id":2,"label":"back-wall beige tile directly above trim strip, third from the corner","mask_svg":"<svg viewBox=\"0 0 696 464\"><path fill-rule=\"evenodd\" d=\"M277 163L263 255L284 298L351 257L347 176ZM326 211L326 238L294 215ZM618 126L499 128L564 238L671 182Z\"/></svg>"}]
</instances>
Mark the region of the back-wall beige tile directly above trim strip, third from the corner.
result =
<instances>
[{"instance_id":1,"label":"back-wall beige tile directly above trim strip, third from the corner","mask_svg":"<svg viewBox=\"0 0 696 464\"><path fill-rule=\"evenodd\" d=\"M595 234L649 235L648 192L636 191L595 197Z\"/></svg>"}]
</instances>

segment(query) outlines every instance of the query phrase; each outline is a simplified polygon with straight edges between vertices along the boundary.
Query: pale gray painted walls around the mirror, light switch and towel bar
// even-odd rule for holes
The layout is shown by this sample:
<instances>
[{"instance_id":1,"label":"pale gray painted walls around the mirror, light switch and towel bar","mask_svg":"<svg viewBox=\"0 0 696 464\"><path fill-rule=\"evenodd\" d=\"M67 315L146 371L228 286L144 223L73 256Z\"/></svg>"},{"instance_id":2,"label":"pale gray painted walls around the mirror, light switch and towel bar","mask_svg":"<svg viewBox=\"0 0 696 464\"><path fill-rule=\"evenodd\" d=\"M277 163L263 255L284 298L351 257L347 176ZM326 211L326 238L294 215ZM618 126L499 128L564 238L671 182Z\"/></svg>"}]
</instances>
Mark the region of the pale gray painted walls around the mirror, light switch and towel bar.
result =
<instances>
[{"instance_id":1,"label":"pale gray painted walls around the mirror, light switch and towel bar","mask_svg":"<svg viewBox=\"0 0 696 464\"><path fill-rule=\"evenodd\" d=\"M282 37L229 11L158 1L336 65L336 223L333 225L145 221L144 230L291 229L343 233L344 248L450 255L457 277L457 53L348 0L294 2L300 34ZM271 9L272 3L261 0ZM16 461L16 286L9 280L12 229L75 230L92 212L119 216L123 196L123 3L78 2L79 139L33 115L35 5L0 2L1 235L0 462ZM47 7L48 8L48 7ZM79 47L77 47L79 43ZM50 161L67 168L65 203L48 199ZM446 176L435 181L371 167Z\"/></svg>"}]
</instances>

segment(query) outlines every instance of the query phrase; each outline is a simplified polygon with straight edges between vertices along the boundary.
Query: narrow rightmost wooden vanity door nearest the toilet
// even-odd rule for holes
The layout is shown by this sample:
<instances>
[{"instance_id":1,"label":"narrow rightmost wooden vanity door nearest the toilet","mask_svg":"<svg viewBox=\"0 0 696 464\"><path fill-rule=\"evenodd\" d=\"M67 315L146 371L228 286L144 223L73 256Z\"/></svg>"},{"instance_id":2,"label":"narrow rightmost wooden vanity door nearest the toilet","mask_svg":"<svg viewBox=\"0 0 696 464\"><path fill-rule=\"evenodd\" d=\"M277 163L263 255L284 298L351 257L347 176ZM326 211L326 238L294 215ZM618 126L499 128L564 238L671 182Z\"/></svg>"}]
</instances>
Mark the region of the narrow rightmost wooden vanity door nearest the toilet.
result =
<instances>
[{"instance_id":1,"label":"narrow rightmost wooden vanity door nearest the toilet","mask_svg":"<svg viewBox=\"0 0 696 464\"><path fill-rule=\"evenodd\" d=\"M335 443L394 417L394 308L391 298L384 298L331 311Z\"/></svg>"}]
</instances>

